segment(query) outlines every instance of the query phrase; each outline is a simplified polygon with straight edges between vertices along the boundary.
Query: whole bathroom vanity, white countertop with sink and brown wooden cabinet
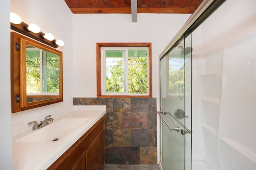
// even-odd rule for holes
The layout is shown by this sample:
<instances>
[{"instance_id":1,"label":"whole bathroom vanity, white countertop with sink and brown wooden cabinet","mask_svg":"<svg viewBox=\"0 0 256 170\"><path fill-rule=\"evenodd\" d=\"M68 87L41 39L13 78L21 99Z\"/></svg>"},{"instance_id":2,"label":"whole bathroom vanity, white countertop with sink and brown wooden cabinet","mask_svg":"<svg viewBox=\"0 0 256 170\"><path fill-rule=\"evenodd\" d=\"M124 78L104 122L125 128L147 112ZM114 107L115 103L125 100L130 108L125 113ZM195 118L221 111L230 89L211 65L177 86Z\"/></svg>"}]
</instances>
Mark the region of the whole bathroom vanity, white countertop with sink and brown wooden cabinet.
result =
<instances>
[{"instance_id":1,"label":"whole bathroom vanity, white countertop with sink and brown wooden cabinet","mask_svg":"<svg viewBox=\"0 0 256 170\"><path fill-rule=\"evenodd\" d=\"M14 169L101 170L106 110L73 110L13 137ZM31 127L32 128L32 127Z\"/></svg>"}]
</instances>

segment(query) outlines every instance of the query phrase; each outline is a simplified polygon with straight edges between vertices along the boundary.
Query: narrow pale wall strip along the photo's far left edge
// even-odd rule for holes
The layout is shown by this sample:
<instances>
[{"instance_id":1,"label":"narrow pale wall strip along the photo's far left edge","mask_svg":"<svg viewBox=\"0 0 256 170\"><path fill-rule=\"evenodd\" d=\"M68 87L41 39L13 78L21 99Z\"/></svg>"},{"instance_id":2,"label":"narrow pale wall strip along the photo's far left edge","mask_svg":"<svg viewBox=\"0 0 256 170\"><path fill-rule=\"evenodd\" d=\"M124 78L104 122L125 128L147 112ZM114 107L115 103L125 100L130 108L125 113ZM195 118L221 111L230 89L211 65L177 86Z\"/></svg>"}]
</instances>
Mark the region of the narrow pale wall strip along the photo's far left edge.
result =
<instances>
[{"instance_id":1,"label":"narrow pale wall strip along the photo's far left edge","mask_svg":"<svg viewBox=\"0 0 256 170\"><path fill-rule=\"evenodd\" d=\"M10 0L1 2L0 7L0 169L11 170L12 133L10 97Z\"/></svg>"}]
</instances>

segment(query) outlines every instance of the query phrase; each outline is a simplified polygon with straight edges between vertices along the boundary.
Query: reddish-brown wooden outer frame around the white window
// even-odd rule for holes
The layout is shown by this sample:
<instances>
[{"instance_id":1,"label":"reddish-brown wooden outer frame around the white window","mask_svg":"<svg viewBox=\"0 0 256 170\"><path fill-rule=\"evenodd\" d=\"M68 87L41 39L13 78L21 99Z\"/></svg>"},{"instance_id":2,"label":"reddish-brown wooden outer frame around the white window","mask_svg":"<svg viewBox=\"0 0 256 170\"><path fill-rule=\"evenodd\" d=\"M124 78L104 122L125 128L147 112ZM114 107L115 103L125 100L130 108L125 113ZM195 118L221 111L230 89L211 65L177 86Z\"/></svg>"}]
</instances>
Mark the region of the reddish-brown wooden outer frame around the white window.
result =
<instances>
[{"instance_id":1,"label":"reddish-brown wooden outer frame around the white window","mask_svg":"<svg viewBox=\"0 0 256 170\"><path fill-rule=\"evenodd\" d=\"M147 95L102 95L101 93L101 47L148 47ZM151 43L96 43L97 98L152 98L152 45Z\"/></svg>"}]
</instances>

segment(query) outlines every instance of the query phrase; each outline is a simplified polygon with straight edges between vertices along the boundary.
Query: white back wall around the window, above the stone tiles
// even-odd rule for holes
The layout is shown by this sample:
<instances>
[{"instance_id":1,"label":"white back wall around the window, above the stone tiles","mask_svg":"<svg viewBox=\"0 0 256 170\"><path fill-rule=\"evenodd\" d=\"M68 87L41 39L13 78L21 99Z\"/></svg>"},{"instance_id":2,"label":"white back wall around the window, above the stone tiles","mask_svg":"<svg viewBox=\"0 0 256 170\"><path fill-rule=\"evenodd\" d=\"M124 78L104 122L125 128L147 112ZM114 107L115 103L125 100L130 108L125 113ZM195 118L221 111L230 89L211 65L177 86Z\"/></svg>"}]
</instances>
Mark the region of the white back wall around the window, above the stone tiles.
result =
<instances>
[{"instance_id":1,"label":"white back wall around the window, above the stone tiles","mask_svg":"<svg viewBox=\"0 0 256 170\"><path fill-rule=\"evenodd\" d=\"M158 52L166 47L190 14L76 14L73 16L74 97L96 97L96 43L151 42L152 88L157 97Z\"/></svg>"}]
</instances>

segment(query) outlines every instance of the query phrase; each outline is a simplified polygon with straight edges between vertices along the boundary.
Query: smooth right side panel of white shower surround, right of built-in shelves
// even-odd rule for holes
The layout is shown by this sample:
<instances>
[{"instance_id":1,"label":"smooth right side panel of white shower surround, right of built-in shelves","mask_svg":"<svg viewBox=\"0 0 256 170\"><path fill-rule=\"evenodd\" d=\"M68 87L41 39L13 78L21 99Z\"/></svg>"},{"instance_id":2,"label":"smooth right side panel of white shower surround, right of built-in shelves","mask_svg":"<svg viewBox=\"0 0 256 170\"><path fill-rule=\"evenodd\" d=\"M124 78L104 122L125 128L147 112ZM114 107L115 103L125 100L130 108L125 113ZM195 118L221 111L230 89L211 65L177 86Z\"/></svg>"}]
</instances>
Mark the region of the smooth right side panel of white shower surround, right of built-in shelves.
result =
<instances>
[{"instance_id":1,"label":"smooth right side panel of white shower surround, right of built-in shelves","mask_svg":"<svg viewBox=\"0 0 256 170\"><path fill-rule=\"evenodd\" d=\"M222 170L256 169L255 47L256 28L224 48L218 127Z\"/></svg>"}]
</instances>

